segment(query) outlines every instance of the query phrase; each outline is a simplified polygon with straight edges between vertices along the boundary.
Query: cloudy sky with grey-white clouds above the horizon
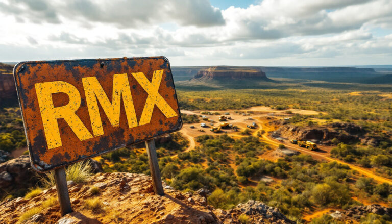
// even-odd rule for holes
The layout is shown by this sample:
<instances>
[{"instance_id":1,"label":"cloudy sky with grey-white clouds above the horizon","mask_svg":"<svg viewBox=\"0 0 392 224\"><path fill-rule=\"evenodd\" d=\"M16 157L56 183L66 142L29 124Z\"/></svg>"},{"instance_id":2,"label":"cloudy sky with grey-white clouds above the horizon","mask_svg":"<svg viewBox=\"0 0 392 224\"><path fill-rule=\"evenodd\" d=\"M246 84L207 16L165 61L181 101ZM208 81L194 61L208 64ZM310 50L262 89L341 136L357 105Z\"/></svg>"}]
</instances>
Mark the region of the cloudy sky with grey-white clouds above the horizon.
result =
<instances>
[{"instance_id":1,"label":"cloudy sky with grey-white clouds above the horizon","mask_svg":"<svg viewBox=\"0 0 392 224\"><path fill-rule=\"evenodd\" d=\"M392 0L0 0L0 61L392 64Z\"/></svg>"}]
</instances>

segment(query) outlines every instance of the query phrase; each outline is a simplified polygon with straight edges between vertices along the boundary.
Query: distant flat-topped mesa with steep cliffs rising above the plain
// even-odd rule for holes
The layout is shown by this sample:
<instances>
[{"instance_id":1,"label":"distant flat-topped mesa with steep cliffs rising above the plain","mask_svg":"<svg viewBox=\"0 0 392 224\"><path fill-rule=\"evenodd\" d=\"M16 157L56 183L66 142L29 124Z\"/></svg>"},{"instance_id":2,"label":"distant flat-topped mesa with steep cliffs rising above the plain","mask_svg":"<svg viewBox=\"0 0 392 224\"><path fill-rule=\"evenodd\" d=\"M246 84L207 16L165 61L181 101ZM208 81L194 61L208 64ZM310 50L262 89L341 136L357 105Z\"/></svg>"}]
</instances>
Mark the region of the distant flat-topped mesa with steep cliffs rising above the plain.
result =
<instances>
[{"instance_id":1,"label":"distant flat-topped mesa with steep cliffs rising above the plain","mask_svg":"<svg viewBox=\"0 0 392 224\"><path fill-rule=\"evenodd\" d=\"M265 72L246 67L214 66L200 69L194 79L208 80L247 80L266 79Z\"/></svg>"}]
</instances>

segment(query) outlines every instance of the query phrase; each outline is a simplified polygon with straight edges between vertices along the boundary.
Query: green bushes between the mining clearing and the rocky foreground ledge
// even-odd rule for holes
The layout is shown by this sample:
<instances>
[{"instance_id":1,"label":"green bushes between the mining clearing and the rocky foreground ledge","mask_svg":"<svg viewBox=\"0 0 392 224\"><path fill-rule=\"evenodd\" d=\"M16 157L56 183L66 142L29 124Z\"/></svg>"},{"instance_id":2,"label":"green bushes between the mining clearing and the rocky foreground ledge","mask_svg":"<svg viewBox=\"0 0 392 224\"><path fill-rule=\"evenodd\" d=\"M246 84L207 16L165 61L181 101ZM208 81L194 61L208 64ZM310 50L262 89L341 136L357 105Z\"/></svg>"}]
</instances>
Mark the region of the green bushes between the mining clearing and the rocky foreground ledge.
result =
<instances>
[{"instance_id":1,"label":"green bushes between the mining clearing and the rocky foreground ledge","mask_svg":"<svg viewBox=\"0 0 392 224\"><path fill-rule=\"evenodd\" d=\"M183 191L209 189L212 193L208 203L215 208L231 209L252 199L278 207L291 219L300 220L305 210L345 209L360 204L352 199L357 196L355 192L360 192L360 198L379 195L367 194L362 190L362 180L355 180L353 171L337 162L318 162L309 155L286 157L276 162L256 159L268 145L254 136L233 139L226 134L201 135L195 141L199 143L195 150L179 153L178 157L172 158L168 150L159 154L162 178ZM118 167L149 173L144 151L138 148L129 151L133 162L129 163L129 158L121 157L121 165L125 168ZM236 168L233 169L231 164L235 164ZM116 163L110 169L115 171L115 167ZM264 175L280 181L259 181ZM366 182L367 185L371 192L376 192L374 189L378 184ZM385 195L385 189L389 188L378 186L377 192ZM379 198L388 203L387 197Z\"/></svg>"}]
</instances>

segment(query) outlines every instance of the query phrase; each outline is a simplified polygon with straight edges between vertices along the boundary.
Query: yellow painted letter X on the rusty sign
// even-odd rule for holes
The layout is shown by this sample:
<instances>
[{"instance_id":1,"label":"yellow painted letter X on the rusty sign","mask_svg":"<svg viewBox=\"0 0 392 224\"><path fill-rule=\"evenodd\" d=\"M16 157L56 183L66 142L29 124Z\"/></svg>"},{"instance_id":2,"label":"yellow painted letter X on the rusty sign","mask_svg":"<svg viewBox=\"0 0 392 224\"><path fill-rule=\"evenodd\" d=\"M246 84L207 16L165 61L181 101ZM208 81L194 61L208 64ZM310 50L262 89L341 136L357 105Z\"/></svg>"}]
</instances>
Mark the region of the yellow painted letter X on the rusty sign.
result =
<instances>
[{"instance_id":1,"label":"yellow painted letter X on the rusty sign","mask_svg":"<svg viewBox=\"0 0 392 224\"><path fill-rule=\"evenodd\" d=\"M162 74L163 70L154 71L153 79L150 83L143 72L132 73L133 77L135 77L141 87L143 87L143 89L149 94L145 101L143 112L141 113L139 125L150 123L154 105L157 105L167 118L178 116L173 108L171 108L165 99L158 93L159 86L161 85Z\"/></svg>"}]
</instances>

